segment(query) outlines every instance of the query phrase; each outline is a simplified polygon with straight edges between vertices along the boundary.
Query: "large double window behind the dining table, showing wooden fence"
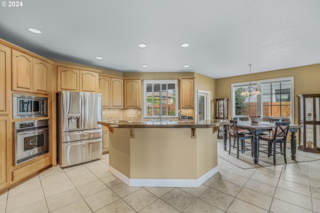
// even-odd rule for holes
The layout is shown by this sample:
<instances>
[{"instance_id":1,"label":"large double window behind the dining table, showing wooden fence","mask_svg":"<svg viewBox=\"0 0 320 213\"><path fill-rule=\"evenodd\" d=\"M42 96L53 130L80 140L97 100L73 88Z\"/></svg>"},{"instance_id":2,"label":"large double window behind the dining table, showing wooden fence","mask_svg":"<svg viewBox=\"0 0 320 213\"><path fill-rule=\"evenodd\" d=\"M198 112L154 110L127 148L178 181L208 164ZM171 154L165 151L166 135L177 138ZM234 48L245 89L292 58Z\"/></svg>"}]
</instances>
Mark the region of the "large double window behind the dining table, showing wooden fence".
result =
<instances>
[{"instance_id":1,"label":"large double window behind the dining table, showing wooden fence","mask_svg":"<svg viewBox=\"0 0 320 213\"><path fill-rule=\"evenodd\" d=\"M252 83L252 82L251 82ZM261 95L240 96L248 83L233 83L232 117L260 115L262 121L270 117L288 117L293 120L293 77L254 81L252 86L261 91Z\"/></svg>"}]
</instances>

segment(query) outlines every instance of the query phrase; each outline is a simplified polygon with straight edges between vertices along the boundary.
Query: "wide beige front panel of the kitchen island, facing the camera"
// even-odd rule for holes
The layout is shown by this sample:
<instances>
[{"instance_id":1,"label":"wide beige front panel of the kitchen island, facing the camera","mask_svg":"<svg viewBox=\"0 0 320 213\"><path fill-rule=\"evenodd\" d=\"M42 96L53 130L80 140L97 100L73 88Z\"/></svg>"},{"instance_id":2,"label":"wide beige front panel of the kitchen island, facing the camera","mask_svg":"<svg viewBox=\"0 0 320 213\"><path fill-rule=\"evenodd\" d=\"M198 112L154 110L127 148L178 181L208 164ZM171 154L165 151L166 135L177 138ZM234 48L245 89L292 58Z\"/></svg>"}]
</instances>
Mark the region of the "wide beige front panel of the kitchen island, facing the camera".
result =
<instances>
[{"instance_id":1,"label":"wide beige front panel of the kitchen island, facing the camera","mask_svg":"<svg viewBox=\"0 0 320 213\"><path fill-rule=\"evenodd\" d=\"M135 128L130 178L196 179L196 143L190 128Z\"/></svg>"}]
</instances>

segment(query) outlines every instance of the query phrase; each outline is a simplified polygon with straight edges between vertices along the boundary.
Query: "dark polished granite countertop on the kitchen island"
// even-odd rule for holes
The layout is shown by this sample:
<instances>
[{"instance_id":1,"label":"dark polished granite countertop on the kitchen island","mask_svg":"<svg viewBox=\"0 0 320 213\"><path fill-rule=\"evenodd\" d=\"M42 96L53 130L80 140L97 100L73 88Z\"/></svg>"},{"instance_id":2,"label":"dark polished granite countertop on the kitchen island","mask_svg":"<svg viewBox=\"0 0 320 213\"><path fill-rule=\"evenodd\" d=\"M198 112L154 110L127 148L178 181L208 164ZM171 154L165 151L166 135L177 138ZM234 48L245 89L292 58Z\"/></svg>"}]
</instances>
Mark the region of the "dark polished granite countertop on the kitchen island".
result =
<instances>
[{"instance_id":1,"label":"dark polished granite countertop on the kitchen island","mask_svg":"<svg viewBox=\"0 0 320 213\"><path fill-rule=\"evenodd\" d=\"M194 122L194 120L104 120L98 124L117 128L212 128L229 123L224 119L207 119Z\"/></svg>"}]
</instances>

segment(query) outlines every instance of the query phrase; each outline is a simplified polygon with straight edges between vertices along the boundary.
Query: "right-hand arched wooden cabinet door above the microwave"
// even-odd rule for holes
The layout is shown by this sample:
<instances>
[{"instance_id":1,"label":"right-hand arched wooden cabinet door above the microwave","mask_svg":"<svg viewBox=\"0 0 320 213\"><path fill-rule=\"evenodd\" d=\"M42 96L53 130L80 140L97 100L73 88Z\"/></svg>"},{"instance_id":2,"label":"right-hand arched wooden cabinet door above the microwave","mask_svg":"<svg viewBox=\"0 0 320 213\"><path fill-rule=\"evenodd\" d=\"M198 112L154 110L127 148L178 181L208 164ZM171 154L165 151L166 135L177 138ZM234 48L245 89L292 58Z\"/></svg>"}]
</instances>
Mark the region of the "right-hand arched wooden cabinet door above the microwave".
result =
<instances>
[{"instance_id":1,"label":"right-hand arched wooden cabinet door above the microwave","mask_svg":"<svg viewBox=\"0 0 320 213\"><path fill-rule=\"evenodd\" d=\"M52 67L37 58L33 58L33 92L45 93L49 92L49 75Z\"/></svg>"}]
</instances>

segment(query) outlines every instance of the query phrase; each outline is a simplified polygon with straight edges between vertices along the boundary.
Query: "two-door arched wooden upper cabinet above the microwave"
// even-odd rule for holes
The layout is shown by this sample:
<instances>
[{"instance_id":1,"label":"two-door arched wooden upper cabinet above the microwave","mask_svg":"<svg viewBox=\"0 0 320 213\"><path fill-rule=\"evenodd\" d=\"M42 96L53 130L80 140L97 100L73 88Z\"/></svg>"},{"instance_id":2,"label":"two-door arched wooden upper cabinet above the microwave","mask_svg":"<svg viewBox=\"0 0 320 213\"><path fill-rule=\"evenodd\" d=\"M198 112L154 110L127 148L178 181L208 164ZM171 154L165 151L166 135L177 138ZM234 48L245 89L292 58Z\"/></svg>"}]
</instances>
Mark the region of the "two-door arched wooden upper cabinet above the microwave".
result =
<instances>
[{"instance_id":1,"label":"two-door arched wooden upper cabinet above the microwave","mask_svg":"<svg viewBox=\"0 0 320 213\"><path fill-rule=\"evenodd\" d=\"M12 49L12 90L48 94L52 66Z\"/></svg>"}]
</instances>

